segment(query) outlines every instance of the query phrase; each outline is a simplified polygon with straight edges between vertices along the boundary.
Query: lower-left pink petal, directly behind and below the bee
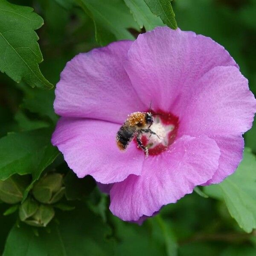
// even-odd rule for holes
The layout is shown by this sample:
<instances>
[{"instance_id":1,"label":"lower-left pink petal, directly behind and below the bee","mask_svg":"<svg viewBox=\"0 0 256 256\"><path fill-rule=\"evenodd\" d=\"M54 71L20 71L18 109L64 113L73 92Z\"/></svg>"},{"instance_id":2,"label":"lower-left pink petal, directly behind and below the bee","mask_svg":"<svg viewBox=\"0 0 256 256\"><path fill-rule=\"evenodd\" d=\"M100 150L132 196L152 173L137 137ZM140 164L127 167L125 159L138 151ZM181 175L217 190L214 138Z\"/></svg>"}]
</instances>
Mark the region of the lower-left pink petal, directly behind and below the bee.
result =
<instances>
[{"instance_id":1,"label":"lower-left pink petal, directly behind and below the bee","mask_svg":"<svg viewBox=\"0 0 256 256\"><path fill-rule=\"evenodd\" d=\"M52 144L79 178L91 175L100 183L118 182L130 174L140 175L145 159L135 143L125 152L117 148L118 129L110 122L61 117Z\"/></svg>"}]
</instances>

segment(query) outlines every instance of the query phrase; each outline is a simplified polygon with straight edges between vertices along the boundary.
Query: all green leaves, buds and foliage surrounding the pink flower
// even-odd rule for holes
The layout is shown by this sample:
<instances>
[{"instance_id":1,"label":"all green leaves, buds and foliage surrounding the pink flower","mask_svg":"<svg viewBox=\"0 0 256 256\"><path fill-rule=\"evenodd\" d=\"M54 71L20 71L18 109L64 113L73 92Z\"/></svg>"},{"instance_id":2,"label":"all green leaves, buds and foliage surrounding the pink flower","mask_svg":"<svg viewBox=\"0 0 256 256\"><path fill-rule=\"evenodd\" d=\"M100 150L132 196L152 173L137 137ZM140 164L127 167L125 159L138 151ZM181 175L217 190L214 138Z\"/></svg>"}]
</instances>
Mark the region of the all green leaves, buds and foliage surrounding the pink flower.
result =
<instances>
[{"instance_id":1,"label":"all green leaves, buds and foliage surrounding the pink flower","mask_svg":"<svg viewBox=\"0 0 256 256\"><path fill-rule=\"evenodd\" d=\"M67 61L155 26L213 38L256 94L255 14L256 0L0 0L0 254L256 255L256 124L234 175L142 226L114 217L108 196L91 177L77 179L50 144L50 88Z\"/></svg>"}]
</instances>

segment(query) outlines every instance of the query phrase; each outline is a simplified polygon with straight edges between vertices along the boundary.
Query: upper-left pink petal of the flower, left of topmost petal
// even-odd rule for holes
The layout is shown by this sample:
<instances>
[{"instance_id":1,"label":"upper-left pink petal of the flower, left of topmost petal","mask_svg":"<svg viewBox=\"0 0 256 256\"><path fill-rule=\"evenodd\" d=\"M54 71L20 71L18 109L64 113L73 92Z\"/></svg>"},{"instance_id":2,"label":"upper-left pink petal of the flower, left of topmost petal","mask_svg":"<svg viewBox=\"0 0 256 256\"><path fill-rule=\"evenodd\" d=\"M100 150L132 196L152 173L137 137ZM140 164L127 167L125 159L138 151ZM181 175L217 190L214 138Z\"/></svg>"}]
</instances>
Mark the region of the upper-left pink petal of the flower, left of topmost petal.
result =
<instances>
[{"instance_id":1,"label":"upper-left pink petal of the flower, left of topmost petal","mask_svg":"<svg viewBox=\"0 0 256 256\"><path fill-rule=\"evenodd\" d=\"M130 45L115 42L69 61L56 86L55 112L122 123L129 113L144 110L122 66Z\"/></svg>"}]
</instances>

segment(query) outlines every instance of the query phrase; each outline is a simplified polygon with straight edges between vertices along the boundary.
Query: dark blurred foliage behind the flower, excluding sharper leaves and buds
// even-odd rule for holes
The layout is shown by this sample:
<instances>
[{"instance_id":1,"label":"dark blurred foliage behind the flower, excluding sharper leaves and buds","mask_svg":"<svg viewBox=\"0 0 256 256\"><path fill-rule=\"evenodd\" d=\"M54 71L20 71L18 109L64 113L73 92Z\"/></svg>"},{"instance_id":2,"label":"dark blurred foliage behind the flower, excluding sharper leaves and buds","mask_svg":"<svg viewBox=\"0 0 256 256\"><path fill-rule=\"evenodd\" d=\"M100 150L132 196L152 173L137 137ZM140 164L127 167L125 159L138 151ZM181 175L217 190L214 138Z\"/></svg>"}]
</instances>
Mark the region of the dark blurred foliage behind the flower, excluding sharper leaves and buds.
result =
<instances>
[{"instance_id":1,"label":"dark blurred foliage behind the flower, excluding sharper leaves and buds","mask_svg":"<svg viewBox=\"0 0 256 256\"><path fill-rule=\"evenodd\" d=\"M99 47L93 21L71 2L9 2L31 6L43 17L44 25L37 30L44 57L39 67L52 84L58 82L67 61L79 52ZM256 0L174 0L172 6L180 29L209 36L230 52L255 94ZM135 29L130 31L138 35ZM54 90L17 84L0 73L0 137L8 132L54 127L58 116L52 108L53 100ZM245 141L256 153L256 124L245 134ZM52 170L65 175L67 187L73 186L70 201L66 205L61 199L62 209L55 209L55 218L46 228L18 223L19 229L12 228L17 214L3 216L8 207L0 203L0 254L6 244L6 256L71 255L71 251L72 255L256 255L255 232L245 233L223 200L193 192L139 226L113 217L108 196L97 191L90 177L77 180L60 155L45 172Z\"/></svg>"}]
</instances>

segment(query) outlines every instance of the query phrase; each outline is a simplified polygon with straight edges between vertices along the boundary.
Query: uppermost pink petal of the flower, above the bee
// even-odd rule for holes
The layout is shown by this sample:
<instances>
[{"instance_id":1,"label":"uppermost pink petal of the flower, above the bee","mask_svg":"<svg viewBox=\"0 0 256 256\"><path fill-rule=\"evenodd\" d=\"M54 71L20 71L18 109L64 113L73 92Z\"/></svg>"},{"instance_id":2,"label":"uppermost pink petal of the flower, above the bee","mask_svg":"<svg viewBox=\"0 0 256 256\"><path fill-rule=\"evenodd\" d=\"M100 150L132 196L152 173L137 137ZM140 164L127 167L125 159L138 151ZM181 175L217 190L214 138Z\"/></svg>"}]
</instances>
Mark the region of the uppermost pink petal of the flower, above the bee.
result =
<instances>
[{"instance_id":1,"label":"uppermost pink petal of the flower, above the bee","mask_svg":"<svg viewBox=\"0 0 256 256\"><path fill-rule=\"evenodd\" d=\"M211 38L159 27L134 41L125 70L145 105L179 116L194 82L216 66L236 63Z\"/></svg>"}]
</instances>

